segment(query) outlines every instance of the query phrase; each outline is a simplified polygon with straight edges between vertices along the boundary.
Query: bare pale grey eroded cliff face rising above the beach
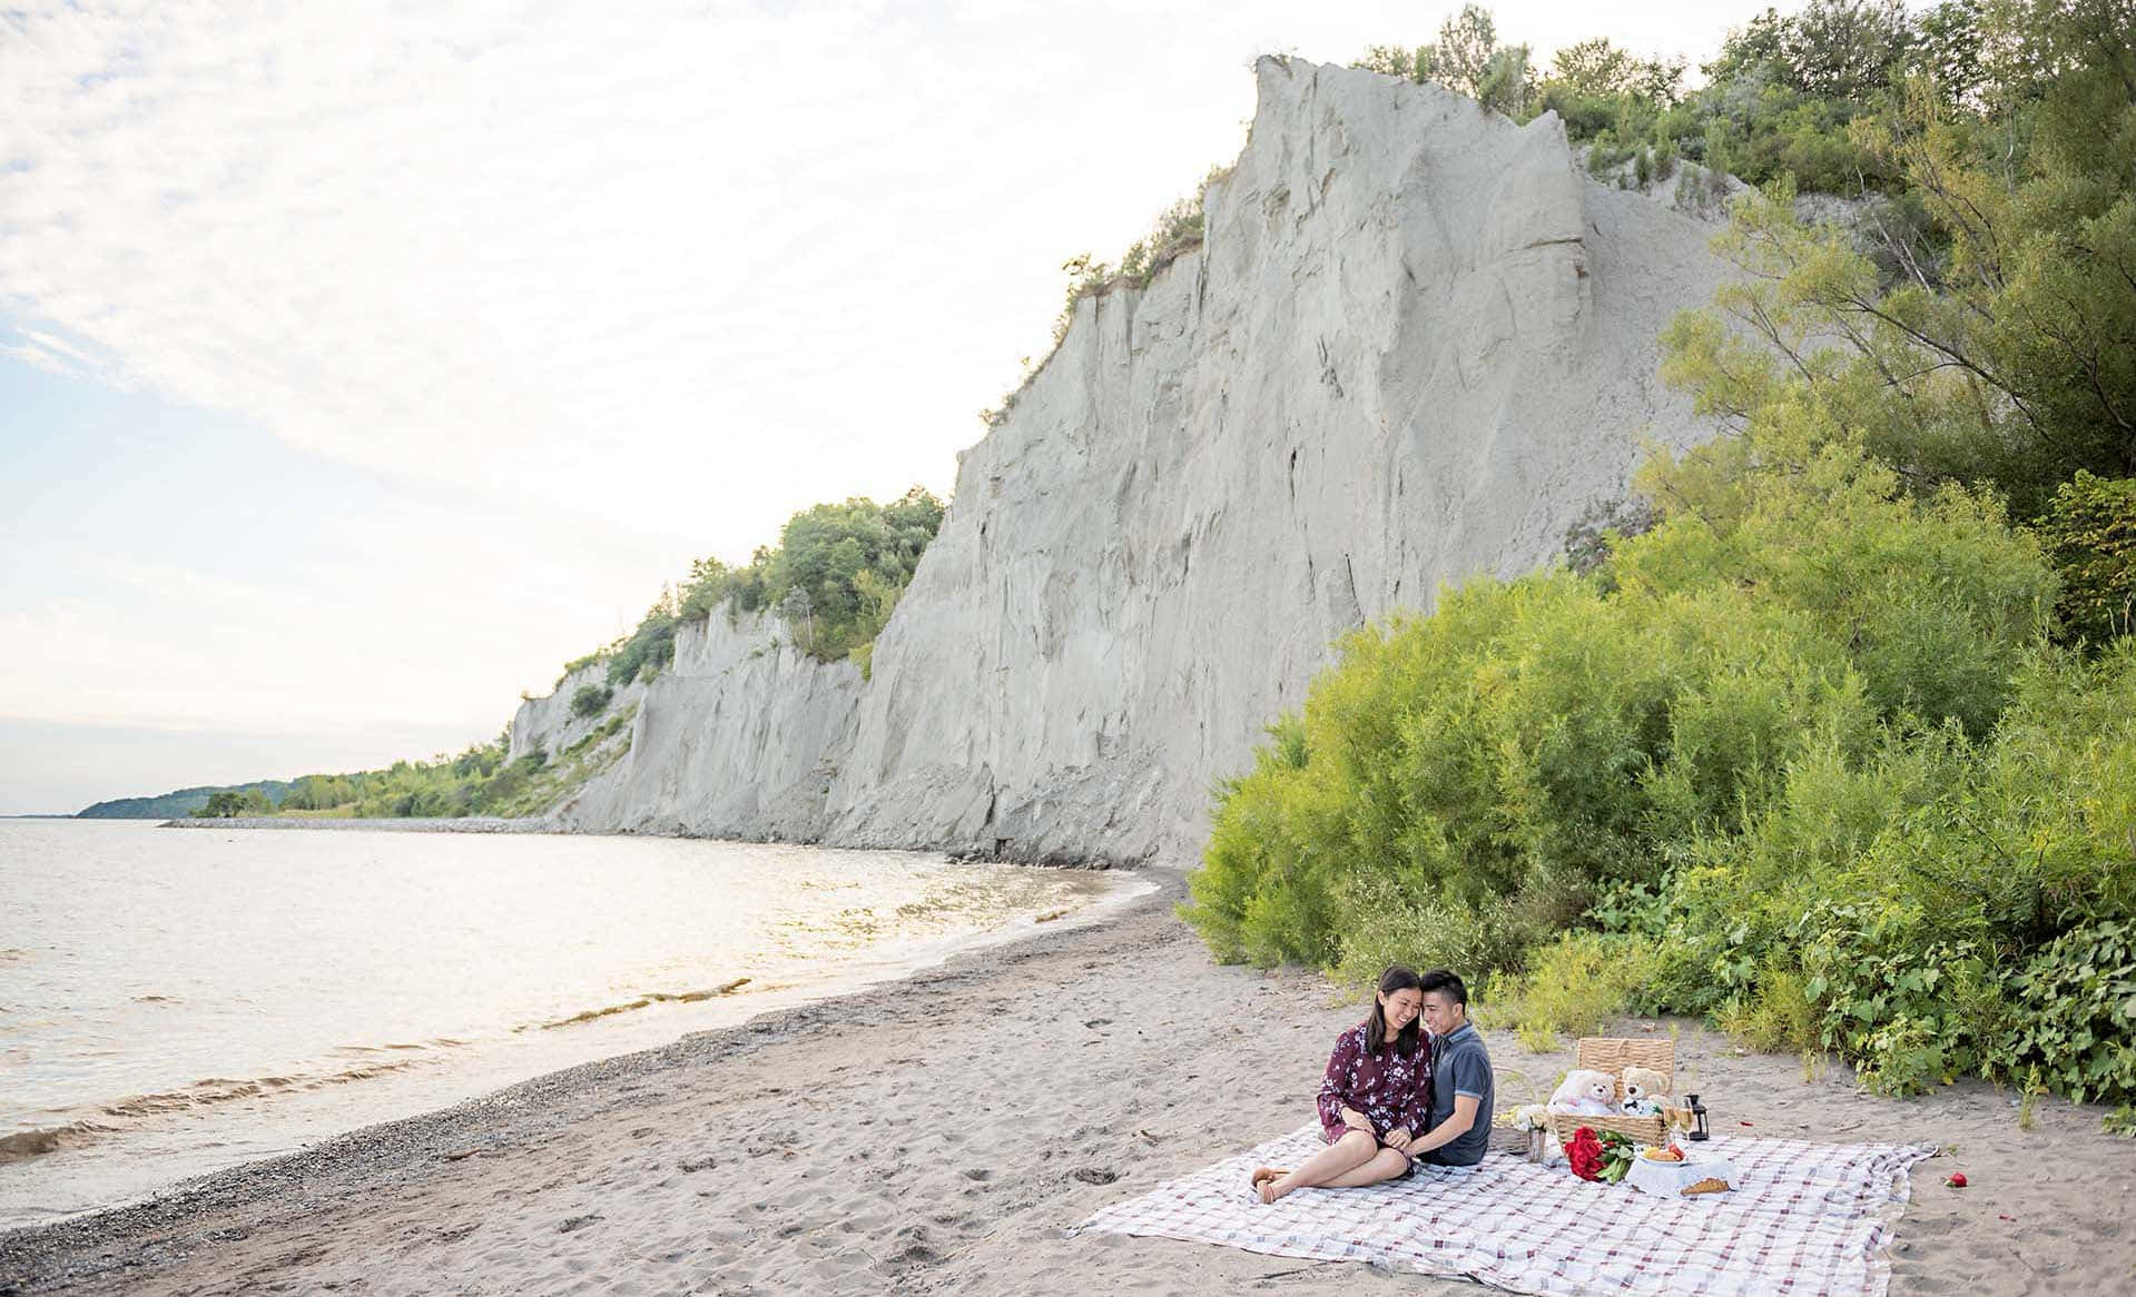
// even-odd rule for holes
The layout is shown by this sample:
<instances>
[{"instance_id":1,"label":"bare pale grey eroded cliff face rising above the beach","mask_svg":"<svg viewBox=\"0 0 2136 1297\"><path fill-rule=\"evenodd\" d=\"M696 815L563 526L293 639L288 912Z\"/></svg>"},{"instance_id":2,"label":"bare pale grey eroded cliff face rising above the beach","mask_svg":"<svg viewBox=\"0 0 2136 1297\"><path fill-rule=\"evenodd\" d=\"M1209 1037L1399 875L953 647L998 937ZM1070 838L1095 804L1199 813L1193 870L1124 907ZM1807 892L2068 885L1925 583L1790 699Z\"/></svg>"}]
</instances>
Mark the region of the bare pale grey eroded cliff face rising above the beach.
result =
<instances>
[{"instance_id":1,"label":"bare pale grey eroded cliff face rising above the beach","mask_svg":"<svg viewBox=\"0 0 2136 1297\"><path fill-rule=\"evenodd\" d=\"M570 823L1190 864L1333 640L1549 561L1640 437L1707 435L1655 378L1707 226L1587 181L1555 117L1258 79L1203 250L1085 299L961 457L874 678L743 670L716 614Z\"/></svg>"}]
</instances>

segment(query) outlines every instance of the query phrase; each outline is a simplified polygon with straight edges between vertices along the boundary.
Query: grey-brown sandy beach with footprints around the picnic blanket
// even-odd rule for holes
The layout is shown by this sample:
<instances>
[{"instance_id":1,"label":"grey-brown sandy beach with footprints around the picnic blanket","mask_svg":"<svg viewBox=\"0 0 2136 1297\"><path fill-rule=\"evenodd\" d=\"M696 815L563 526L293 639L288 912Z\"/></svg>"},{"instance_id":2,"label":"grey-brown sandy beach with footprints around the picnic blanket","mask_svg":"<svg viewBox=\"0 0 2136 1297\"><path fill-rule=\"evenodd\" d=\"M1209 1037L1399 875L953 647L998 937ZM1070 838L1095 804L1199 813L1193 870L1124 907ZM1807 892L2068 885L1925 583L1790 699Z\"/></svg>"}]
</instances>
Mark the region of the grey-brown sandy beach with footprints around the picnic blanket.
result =
<instances>
[{"instance_id":1,"label":"grey-brown sandy beach with footprints around the picnic blanket","mask_svg":"<svg viewBox=\"0 0 2136 1297\"><path fill-rule=\"evenodd\" d=\"M0 1293L1482 1291L1068 1237L1305 1122L1329 1043L1358 1018L1316 973L1213 964L1171 913L1179 881L1153 879L1111 917L861 996L0 1235ZM2044 1101L2021 1131L1984 1084L1875 1099L1846 1067L1805 1082L1796 1058L1675 1028L1681 1088L1717 1126L1950 1148L1914 1171L1892 1293L2136 1288L2136 1146L2098 1109ZM1570 1064L1489 1041L1502 1075L1549 1084ZM1521 1099L1519 1079L1502 1086ZM1952 1171L1972 1186L1946 1188Z\"/></svg>"}]
</instances>

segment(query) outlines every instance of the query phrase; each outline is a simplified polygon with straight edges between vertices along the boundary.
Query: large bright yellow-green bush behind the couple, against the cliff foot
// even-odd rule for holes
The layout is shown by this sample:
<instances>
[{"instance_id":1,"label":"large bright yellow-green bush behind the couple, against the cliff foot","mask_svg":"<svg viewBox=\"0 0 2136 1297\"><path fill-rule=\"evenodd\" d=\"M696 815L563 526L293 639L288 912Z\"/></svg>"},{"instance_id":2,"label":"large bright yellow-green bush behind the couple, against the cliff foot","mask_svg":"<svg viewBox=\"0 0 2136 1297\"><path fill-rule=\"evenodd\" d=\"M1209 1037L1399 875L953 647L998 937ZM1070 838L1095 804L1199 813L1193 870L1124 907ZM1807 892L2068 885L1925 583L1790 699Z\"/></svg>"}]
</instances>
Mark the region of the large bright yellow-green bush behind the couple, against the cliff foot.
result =
<instances>
[{"instance_id":1,"label":"large bright yellow-green bush behind the couple, against the cliff foot","mask_svg":"<svg viewBox=\"0 0 2136 1297\"><path fill-rule=\"evenodd\" d=\"M1905 734L1991 730L2048 589L1982 501L1914 501L1828 450L1739 516L1623 540L1596 580L1448 591L1344 640L1288 749L1222 798L1185 913L1265 962L1341 962L1382 915L1465 913L1465 945L1519 966L1608 890L1741 836L1796 772L1846 783ZM1683 945L1717 958L1737 926ZM1700 975L1719 1003L1760 962L1730 960L1734 981Z\"/></svg>"}]
</instances>

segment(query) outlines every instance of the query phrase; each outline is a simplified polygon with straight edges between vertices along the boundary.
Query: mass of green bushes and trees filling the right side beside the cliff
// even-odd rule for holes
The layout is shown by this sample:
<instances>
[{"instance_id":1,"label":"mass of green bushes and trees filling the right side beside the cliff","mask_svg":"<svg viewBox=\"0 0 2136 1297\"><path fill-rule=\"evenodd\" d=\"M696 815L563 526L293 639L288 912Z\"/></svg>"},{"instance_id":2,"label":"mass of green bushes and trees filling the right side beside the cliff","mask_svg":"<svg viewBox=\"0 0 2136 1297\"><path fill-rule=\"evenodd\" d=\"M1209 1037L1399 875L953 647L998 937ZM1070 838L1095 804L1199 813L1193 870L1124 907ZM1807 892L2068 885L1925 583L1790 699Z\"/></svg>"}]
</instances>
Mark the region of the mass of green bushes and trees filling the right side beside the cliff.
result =
<instances>
[{"instance_id":1,"label":"mass of green bushes and trees filling the right side beside the cliff","mask_svg":"<svg viewBox=\"0 0 2136 1297\"><path fill-rule=\"evenodd\" d=\"M1730 433L1651 529L1354 634L1220 796L1224 958L1478 973L1529 1035L1623 1009L1984 1075L2136 1133L2136 21L1982 9L1965 98L1850 139L1880 252L1734 205L1666 335Z\"/></svg>"}]
</instances>

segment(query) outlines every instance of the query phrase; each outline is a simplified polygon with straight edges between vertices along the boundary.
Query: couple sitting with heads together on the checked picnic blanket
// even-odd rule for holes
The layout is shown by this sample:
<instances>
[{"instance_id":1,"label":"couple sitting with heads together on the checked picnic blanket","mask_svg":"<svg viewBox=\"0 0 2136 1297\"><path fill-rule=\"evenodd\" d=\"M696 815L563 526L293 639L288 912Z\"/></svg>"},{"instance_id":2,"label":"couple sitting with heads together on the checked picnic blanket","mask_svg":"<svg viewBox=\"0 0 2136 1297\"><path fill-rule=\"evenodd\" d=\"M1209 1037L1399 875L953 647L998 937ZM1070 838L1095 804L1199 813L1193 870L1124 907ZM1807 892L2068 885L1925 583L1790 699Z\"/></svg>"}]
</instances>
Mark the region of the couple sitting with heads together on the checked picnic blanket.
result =
<instances>
[{"instance_id":1,"label":"couple sitting with heads together on the checked picnic blanket","mask_svg":"<svg viewBox=\"0 0 2136 1297\"><path fill-rule=\"evenodd\" d=\"M1418 1039L1418 1020L1431 1041ZM1467 1020L1467 988L1438 968L1380 975L1371 1015L1341 1032L1320 1082L1329 1146L1294 1171L1260 1167L1254 1190L1273 1203L1294 1188L1352 1188L1401 1180L1416 1163L1474 1167L1491 1141L1491 1056Z\"/></svg>"}]
</instances>

